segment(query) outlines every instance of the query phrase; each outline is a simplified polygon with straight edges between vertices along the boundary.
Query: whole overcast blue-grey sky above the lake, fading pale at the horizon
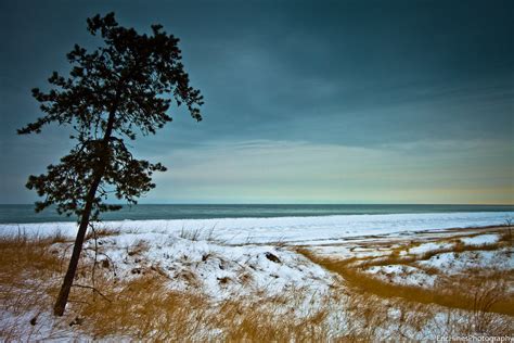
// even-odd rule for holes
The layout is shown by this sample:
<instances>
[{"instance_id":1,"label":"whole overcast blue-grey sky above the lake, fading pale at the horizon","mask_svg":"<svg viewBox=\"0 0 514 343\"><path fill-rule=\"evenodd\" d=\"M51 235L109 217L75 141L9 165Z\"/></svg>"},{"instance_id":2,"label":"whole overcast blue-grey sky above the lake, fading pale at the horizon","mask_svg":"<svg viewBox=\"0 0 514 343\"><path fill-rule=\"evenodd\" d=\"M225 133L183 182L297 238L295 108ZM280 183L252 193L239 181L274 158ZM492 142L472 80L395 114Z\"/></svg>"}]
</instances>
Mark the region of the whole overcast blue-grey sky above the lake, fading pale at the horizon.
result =
<instances>
[{"instance_id":1,"label":"whole overcast blue-grey sky above the lake, fading pale at the horizon","mask_svg":"<svg viewBox=\"0 0 514 343\"><path fill-rule=\"evenodd\" d=\"M181 38L204 120L133 142L142 203L514 203L513 1L0 1L0 203L68 149L15 135L86 18Z\"/></svg>"}]
</instances>

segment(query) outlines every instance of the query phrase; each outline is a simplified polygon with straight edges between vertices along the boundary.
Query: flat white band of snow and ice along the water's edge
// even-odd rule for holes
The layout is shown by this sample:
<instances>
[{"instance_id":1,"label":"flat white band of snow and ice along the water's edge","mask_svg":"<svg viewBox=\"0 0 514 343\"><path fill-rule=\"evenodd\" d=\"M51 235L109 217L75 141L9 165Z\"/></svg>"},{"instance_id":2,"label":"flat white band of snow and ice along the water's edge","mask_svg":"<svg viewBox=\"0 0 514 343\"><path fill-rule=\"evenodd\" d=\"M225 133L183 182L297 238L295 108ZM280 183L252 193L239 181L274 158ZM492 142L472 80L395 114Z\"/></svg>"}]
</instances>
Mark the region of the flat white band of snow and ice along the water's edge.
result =
<instances>
[{"instance_id":1,"label":"flat white band of snow and ice along the water's edge","mask_svg":"<svg viewBox=\"0 0 514 343\"><path fill-rule=\"evenodd\" d=\"M179 233L197 231L210 233L230 244L296 242L312 244L316 241L336 240L371 234L403 231L442 230L450 228L485 227L505 224L514 212L459 212L373 215L331 215L309 217L213 218L213 219L151 219L114 220L97 227L118 229L121 232ZM76 223L0 224L0 236L22 231L33 236L51 236L60 231L74 237Z\"/></svg>"}]
</instances>

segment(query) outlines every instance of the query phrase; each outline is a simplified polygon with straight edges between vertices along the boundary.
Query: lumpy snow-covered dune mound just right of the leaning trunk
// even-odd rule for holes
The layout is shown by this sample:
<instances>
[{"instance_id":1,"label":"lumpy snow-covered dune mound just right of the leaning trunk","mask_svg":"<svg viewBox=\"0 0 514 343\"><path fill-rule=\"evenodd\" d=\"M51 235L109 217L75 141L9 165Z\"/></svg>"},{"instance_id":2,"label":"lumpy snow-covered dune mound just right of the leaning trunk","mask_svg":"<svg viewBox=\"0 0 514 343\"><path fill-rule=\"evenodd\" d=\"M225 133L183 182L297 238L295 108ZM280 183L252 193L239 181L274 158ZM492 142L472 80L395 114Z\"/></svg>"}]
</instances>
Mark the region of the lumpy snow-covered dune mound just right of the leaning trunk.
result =
<instances>
[{"instance_id":1,"label":"lumpy snow-covered dune mound just right of the leaning trunk","mask_svg":"<svg viewBox=\"0 0 514 343\"><path fill-rule=\"evenodd\" d=\"M303 255L272 245L231 246L149 232L106 237L99 244L119 279L157 271L170 289L198 291L216 301L295 290L324 293L334 280Z\"/></svg>"}]
</instances>

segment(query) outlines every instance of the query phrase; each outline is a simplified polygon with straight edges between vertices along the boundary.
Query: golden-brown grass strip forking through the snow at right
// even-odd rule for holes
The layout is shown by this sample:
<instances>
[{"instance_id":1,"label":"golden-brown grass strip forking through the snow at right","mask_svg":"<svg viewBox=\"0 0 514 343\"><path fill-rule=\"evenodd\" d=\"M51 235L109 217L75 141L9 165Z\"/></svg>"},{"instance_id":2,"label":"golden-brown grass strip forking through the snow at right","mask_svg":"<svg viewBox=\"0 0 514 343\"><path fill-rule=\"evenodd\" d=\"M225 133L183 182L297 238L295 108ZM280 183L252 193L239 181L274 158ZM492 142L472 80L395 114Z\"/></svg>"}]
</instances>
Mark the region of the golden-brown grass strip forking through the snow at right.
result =
<instances>
[{"instance_id":1,"label":"golden-brown grass strip forking through the snow at right","mask_svg":"<svg viewBox=\"0 0 514 343\"><path fill-rule=\"evenodd\" d=\"M497 243L481 245L465 245L462 242L452 247L438 249L422 255L400 255L402 250L415 246L411 243L400 249L391 250L391 253L380 257L351 257L337 259L320 257L307 249L298 249L310 261L323 266L327 270L340 275L346 285L356 292L368 292L381 297L400 297L409 302L422 304L438 304L449 308L492 312L514 316L514 300L507 292L506 284L512 281L512 272L490 271L484 275L484 270L470 270L466 276L447 276L439 274L436 269L425 271L438 274L439 281L432 289L403 285L387 282L363 272L365 268L387 265L413 265L415 262L426 261L441 253L462 253L466 251L496 251L512 246L512 242L505 240L505 236Z\"/></svg>"}]
</instances>

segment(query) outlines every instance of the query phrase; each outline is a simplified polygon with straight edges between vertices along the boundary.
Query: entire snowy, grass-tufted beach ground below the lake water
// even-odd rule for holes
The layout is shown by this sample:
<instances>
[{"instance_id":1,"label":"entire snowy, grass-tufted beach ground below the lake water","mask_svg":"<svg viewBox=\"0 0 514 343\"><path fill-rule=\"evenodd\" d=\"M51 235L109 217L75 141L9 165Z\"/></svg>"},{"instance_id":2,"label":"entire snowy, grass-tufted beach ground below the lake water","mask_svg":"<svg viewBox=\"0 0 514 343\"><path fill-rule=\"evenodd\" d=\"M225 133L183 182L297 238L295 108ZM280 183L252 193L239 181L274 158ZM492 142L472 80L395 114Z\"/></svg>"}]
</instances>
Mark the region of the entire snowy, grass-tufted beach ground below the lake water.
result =
<instances>
[{"instance_id":1,"label":"entire snowy, grass-tufted beach ground below the lake water","mask_svg":"<svg viewBox=\"0 0 514 343\"><path fill-rule=\"evenodd\" d=\"M51 305L76 224L2 224L0 334L57 341L435 340L479 329L512 335L514 252L504 225L513 215L95 224L97 239L90 231L75 280L78 302L62 318L51 315ZM468 305L483 292L492 307Z\"/></svg>"}]
</instances>

